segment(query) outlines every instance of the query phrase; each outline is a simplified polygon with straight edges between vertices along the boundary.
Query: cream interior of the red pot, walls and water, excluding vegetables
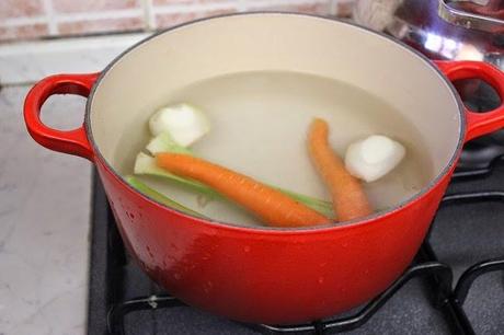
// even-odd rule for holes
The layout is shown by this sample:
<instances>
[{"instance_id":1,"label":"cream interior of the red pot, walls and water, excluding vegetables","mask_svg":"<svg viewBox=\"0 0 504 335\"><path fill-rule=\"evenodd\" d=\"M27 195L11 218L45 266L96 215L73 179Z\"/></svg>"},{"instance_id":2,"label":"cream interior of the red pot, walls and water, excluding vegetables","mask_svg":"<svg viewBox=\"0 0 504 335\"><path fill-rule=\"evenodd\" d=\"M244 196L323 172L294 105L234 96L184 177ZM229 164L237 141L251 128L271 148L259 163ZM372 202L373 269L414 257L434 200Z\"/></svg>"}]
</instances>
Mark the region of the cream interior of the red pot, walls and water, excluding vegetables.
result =
<instances>
[{"instance_id":1,"label":"cream interior of the red pot, walls and water, excluding vegetables","mask_svg":"<svg viewBox=\"0 0 504 335\"><path fill-rule=\"evenodd\" d=\"M385 134L406 146L398 170L365 185L377 209L406 200L449 163L460 138L457 100L442 76L399 44L350 24L294 14L224 16L160 34L116 61L92 97L93 139L119 173L131 174L147 120L190 102L213 130L194 150L261 181L329 198L306 152L313 116L328 119L341 154ZM253 223L229 205L153 178L149 185L222 221ZM201 199L199 199L201 200Z\"/></svg>"}]
</instances>

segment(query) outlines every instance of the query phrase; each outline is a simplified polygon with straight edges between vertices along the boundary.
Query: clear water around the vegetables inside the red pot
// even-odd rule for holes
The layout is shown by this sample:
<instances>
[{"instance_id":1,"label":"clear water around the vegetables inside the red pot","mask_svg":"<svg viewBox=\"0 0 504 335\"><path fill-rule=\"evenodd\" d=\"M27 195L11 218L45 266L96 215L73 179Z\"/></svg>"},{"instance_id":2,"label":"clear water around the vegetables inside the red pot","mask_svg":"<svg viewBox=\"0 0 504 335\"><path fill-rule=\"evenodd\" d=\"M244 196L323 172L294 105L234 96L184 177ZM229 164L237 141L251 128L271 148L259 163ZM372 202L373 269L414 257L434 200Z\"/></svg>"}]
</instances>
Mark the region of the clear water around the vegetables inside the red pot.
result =
<instances>
[{"instance_id":1,"label":"clear water around the vegetables inside the red pot","mask_svg":"<svg viewBox=\"0 0 504 335\"><path fill-rule=\"evenodd\" d=\"M210 118L210 134L193 147L199 157L301 194L329 199L306 149L313 117L330 123L331 143L342 157L352 141L373 134L387 135L406 147L406 158L392 173L365 185L377 210L408 199L435 176L428 150L414 125L385 101L333 79L285 71L228 74L168 93L164 100L164 104L179 102L197 105ZM122 135L119 142L124 145L114 154L122 174L133 173L134 158L148 141L148 117L131 120ZM227 201L206 201L159 178L142 181L213 219L260 224Z\"/></svg>"}]
</instances>

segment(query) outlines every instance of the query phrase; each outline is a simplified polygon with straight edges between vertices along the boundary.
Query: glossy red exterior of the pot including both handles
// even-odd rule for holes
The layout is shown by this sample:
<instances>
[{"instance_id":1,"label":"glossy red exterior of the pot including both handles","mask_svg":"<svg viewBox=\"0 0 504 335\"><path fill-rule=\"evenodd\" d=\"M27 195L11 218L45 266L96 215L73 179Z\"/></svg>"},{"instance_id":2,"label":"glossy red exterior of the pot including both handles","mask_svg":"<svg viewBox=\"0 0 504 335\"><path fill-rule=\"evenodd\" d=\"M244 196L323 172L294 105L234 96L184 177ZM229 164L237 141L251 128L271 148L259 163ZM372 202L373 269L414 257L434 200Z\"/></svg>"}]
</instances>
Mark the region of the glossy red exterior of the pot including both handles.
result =
<instances>
[{"instance_id":1,"label":"glossy red exterior of the pot including both handles","mask_svg":"<svg viewBox=\"0 0 504 335\"><path fill-rule=\"evenodd\" d=\"M451 80L483 78L504 96L504 74L477 62L439 62ZM25 120L41 145L94 160L130 254L188 304L245 322L312 321L383 291L408 267L428 230L455 164L428 192L366 221L307 230L239 228L188 217L130 188L92 151L84 128L44 126L51 94L87 95L96 74L55 76L26 96ZM504 126L504 107L467 112L466 140ZM439 143L442 145L442 143Z\"/></svg>"}]
</instances>

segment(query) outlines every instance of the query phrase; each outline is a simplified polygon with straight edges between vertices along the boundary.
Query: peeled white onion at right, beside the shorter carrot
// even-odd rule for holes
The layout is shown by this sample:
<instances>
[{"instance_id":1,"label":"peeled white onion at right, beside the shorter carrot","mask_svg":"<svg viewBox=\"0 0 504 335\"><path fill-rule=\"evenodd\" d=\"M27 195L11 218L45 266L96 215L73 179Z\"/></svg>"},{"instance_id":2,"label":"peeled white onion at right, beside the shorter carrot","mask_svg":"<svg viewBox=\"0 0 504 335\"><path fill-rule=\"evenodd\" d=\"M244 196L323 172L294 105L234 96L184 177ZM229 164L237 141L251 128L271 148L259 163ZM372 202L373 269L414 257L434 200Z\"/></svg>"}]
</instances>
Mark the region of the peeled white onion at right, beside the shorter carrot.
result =
<instances>
[{"instance_id":1,"label":"peeled white onion at right, beside the shorter carrot","mask_svg":"<svg viewBox=\"0 0 504 335\"><path fill-rule=\"evenodd\" d=\"M352 143L346 150L345 166L352 175L375 182L392 171L404 158L404 147L381 135Z\"/></svg>"}]
</instances>

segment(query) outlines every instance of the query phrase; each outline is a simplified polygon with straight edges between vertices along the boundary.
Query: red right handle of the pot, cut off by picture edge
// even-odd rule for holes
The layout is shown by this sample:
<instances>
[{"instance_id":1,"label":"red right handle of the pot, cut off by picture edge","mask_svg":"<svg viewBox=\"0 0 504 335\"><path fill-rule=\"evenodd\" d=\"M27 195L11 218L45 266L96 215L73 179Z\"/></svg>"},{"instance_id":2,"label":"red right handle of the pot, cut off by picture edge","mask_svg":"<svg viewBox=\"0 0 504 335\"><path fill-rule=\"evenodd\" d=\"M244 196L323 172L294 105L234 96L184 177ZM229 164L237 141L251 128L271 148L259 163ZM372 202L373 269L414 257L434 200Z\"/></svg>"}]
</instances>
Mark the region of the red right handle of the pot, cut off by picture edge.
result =
<instances>
[{"instance_id":1,"label":"red right handle of the pot, cut off by picture edge","mask_svg":"<svg viewBox=\"0 0 504 335\"><path fill-rule=\"evenodd\" d=\"M504 127L504 72L483 61L435 61L450 81L482 79L492 85L501 99L501 105L486 113L474 113L466 107L466 142Z\"/></svg>"}]
</instances>

